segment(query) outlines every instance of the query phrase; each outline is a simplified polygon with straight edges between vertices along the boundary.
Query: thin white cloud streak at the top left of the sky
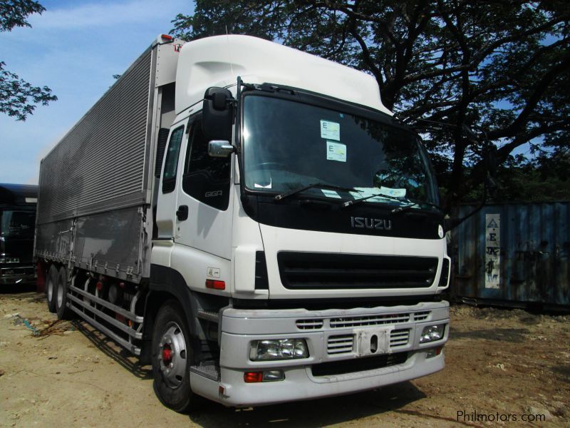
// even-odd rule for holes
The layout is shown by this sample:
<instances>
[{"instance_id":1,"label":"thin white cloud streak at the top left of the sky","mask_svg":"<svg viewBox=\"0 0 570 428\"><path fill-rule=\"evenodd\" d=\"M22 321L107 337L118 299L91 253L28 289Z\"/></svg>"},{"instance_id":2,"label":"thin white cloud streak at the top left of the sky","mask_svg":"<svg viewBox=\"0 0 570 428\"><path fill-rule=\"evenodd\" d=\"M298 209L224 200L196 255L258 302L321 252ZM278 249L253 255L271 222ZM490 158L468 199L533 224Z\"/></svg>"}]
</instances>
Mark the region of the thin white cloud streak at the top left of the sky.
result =
<instances>
[{"instance_id":1,"label":"thin white cloud streak at the top left of the sky","mask_svg":"<svg viewBox=\"0 0 570 428\"><path fill-rule=\"evenodd\" d=\"M186 6L186 7L185 7ZM125 2L101 2L81 4L73 8L48 9L43 14L30 16L35 29L86 29L88 27L113 27L120 24L137 24L158 17L174 17L187 9L183 1L131 0Z\"/></svg>"}]
</instances>

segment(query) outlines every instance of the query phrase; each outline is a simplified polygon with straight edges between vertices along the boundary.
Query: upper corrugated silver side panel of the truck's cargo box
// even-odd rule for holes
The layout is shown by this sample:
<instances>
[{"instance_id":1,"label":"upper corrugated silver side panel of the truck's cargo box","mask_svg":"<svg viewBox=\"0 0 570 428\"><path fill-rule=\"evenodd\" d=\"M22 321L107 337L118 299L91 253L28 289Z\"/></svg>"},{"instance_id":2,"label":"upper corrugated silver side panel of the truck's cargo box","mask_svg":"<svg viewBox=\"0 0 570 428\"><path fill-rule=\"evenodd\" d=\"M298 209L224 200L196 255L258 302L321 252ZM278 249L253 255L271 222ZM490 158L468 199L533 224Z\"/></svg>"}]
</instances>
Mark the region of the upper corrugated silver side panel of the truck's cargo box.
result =
<instances>
[{"instance_id":1,"label":"upper corrugated silver side panel of the truck's cargo box","mask_svg":"<svg viewBox=\"0 0 570 428\"><path fill-rule=\"evenodd\" d=\"M151 50L43 159L38 223L145 203Z\"/></svg>"}]
</instances>

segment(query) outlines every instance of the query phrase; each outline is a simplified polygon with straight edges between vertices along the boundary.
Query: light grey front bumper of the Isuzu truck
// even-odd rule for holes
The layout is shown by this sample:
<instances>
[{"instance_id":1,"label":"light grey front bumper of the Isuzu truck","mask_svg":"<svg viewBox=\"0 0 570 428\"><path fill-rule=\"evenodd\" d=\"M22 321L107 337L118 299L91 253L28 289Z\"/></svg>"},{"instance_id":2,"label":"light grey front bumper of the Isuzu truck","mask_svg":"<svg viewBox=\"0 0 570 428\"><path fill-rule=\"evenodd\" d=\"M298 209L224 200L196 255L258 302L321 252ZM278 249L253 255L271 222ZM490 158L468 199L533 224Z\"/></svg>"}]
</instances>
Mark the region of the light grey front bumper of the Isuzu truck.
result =
<instances>
[{"instance_id":1,"label":"light grey front bumper of the Isuzu truck","mask_svg":"<svg viewBox=\"0 0 570 428\"><path fill-rule=\"evenodd\" d=\"M444 337L420 344L423 327L435 324L445 324ZM443 353L432 351L447 342L448 324L447 302L323 311L228 309L222 317L219 381L192 373L192 389L222 404L244 407L330 397L415 379L444 367ZM378 350L371 349L373 336L380 337ZM284 337L304 338L309 357L249 360L252 340ZM378 361L376 367L363 365L373 361ZM245 372L264 370L283 370L285 378L244 382Z\"/></svg>"}]
</instances>

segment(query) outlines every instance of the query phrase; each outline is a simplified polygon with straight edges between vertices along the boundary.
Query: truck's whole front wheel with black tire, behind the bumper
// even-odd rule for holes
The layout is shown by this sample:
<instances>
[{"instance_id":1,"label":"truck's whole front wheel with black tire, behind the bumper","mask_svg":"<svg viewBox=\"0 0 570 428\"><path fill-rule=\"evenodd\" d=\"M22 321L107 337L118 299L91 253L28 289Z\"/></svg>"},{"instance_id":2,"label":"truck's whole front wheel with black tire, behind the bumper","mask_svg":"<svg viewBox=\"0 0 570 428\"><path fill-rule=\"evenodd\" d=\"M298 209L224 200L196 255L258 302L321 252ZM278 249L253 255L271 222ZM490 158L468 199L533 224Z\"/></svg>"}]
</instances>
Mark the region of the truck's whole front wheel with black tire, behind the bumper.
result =
<instances>
[{"instance_id":1,"label":"truck's whole front wheel with black tire, behind the bumper","mask_svg":"<svg viewBox=\"0 0 570 428\"><path fill-rule=\"evenodd\" d=\"M176 412L188 412L197 401L190 388L194 352L185 312L175 300L168 300L158 310L151 346L153 387L158 399Z\"/></svg>"}]
</instances>

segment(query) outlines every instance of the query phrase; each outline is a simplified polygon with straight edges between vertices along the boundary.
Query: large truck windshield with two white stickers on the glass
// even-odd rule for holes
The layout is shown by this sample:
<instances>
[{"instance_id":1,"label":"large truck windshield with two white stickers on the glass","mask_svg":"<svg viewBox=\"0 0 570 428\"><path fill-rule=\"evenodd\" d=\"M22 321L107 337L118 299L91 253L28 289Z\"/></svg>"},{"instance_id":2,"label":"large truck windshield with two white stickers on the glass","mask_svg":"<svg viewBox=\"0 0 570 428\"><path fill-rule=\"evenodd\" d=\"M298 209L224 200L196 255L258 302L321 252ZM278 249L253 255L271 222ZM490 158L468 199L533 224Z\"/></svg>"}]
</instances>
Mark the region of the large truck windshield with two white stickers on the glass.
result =
<instances>
[{"instance_id":1,"label":"large truck windshield with two white stickers on the glass","mask_svg":"<svg viewBox=\"0 0 570 428\"><path fill-rule=\"evenodd\" d=\"M419 138L403 128L257 95L244 97L243 121L249 190L286 193L320 183L346 190L316 186L302 194L339 202L368 198L367 203L409 205L413 201L418 205L410 208L415 209L439 203Z\"/></svg>"}]
</instances>

